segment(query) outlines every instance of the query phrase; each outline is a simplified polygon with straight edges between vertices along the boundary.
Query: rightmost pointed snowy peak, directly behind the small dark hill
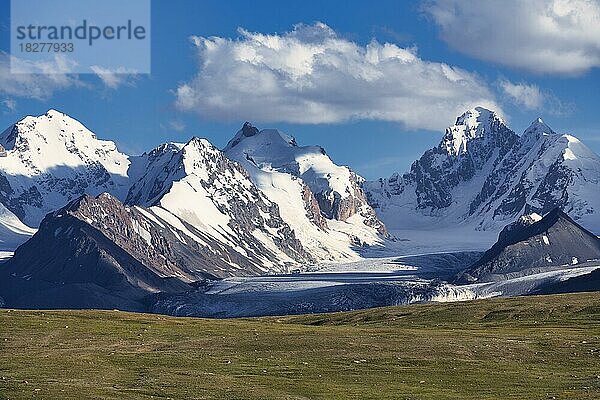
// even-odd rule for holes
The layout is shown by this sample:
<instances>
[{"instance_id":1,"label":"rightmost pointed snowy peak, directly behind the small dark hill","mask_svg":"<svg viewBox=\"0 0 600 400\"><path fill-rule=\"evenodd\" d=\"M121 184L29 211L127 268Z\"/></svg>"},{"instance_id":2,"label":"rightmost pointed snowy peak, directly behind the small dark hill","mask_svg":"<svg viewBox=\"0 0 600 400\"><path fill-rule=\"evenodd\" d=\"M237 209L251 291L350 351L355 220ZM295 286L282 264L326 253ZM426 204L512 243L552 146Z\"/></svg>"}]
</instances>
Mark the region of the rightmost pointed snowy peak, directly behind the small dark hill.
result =
<instances>
[{"instance_id":1,"label":"rightmost pointed snowy peak, directly behind the small dark hill","mask_svg":"<svg viewBox=\"0 0 600 400\"><path fill-rule=\"evenodd\" d=\"M487 221L505 224L520 214L544 215L556 207L600 232L600 157L576 137L557 134L537 119L496 174L488 176L469 211L486 228Z\"/></svg>"}]
</instances>

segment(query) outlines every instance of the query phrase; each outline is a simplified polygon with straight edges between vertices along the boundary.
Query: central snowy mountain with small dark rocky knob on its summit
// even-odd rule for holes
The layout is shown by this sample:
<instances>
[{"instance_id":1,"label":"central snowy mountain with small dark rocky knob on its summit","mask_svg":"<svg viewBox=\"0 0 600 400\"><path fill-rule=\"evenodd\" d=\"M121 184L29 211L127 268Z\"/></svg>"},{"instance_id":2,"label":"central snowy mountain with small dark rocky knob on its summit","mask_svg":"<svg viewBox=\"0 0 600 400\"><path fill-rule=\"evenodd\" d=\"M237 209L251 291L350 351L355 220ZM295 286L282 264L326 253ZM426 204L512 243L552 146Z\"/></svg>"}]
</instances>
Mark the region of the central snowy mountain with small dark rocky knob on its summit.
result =
<instances>
[{"instance_id":1,"label":"central snowy mountain with small dark rocky knob on its summit","mask_svg":"<svg viewBox=\"0 0 600 400\"><path fill-rule=\"evenodd\" d=\"M282 218L319 260L357 257L353 247L387 234L361 189L362 178L318 146L299 146L278 130L246 122L224 149L279 205Z\"/></svg>"}]
</instances>

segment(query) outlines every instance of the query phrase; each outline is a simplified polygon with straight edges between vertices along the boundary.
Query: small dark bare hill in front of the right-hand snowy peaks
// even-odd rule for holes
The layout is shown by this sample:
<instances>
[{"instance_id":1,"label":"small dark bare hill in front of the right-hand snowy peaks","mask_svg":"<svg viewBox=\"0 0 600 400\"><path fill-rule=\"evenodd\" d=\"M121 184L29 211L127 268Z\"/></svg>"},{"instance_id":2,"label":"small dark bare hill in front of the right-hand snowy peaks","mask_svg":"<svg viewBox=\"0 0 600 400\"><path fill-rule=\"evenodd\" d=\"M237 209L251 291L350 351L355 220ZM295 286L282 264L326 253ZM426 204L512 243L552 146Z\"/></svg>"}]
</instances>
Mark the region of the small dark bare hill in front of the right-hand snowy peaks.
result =
<instances>
[{"instance_id":1,"label":"small dark bare hill in front of the right-hand snowy peaks","mask_svg":"<svg viewBox=\"0 0 600 400\"><path fill-rule=\"evenodd\" d=\"M502 280L592 260L600 260L600 240L556 208L544 218L534 214L508 225L458 281Z\"/></svg>"}]
</instances>

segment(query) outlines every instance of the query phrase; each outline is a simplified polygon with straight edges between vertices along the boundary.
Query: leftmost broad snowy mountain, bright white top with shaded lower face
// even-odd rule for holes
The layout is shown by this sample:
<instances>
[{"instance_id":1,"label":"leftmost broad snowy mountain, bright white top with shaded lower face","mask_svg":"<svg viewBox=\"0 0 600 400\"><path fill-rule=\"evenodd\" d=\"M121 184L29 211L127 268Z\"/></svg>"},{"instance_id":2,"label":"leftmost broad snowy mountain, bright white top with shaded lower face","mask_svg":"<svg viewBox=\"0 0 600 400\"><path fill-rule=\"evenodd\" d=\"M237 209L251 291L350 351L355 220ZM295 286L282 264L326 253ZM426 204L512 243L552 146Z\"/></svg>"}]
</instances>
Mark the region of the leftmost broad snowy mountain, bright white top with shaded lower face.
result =
<instances>
[{"instance_id":1,"label":"leftmost broad snowy mountain, bright white top with shaded lower face","mask_svg":"<svg viewBox=\"0 0 600 400\"><path fill-rule=\"evenodd\" d=\"M0 144L0 202L27 226L84 193L127 193L129 157L58 111L24 118Z\"/></svg>"}]
</instances>

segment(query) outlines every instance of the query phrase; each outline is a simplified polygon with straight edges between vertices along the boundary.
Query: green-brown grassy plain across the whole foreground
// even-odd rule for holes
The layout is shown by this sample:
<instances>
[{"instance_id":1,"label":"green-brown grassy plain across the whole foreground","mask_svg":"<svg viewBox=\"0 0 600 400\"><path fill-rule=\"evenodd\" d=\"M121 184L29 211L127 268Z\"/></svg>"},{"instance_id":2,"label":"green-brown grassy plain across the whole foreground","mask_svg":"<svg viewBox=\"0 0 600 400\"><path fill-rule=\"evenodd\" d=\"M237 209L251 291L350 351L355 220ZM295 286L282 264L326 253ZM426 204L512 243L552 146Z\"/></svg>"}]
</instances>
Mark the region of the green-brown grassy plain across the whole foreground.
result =
<instances>
[{"instance_id":1,"label":"green-brown grassy plain across the whole foreground","mask_svg":"<svg viewBox=\"0 0 600 400\"><path fill-rule=\"evenodd\" d=\"M600 293L237 320L0 310L0 398L598 399Z\"/></svg>"}]
</instances>

